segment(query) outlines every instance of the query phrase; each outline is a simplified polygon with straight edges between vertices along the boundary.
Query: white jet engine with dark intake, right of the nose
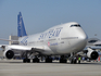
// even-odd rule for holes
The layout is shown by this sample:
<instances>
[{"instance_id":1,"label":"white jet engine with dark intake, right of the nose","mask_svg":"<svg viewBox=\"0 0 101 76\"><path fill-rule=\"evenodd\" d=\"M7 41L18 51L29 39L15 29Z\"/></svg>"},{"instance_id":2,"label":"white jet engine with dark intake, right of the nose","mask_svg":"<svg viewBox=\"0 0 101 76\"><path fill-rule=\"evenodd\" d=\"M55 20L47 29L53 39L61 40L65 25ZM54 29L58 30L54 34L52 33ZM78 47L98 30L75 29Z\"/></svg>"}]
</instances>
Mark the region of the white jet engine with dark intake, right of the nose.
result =
<instances>
[{"instance_id":1,"label":"white jet engine with dark intake, right of the nose","mask_svg":"<svg viewBox=\"0 0 101 76\"><path fill-rule=\"evenodd\" d=\"M88 48L87 56L91 60L96 60L99 56L99 53L91 48Z\"/></svg>"}]
</instances>

